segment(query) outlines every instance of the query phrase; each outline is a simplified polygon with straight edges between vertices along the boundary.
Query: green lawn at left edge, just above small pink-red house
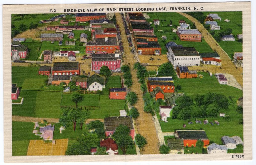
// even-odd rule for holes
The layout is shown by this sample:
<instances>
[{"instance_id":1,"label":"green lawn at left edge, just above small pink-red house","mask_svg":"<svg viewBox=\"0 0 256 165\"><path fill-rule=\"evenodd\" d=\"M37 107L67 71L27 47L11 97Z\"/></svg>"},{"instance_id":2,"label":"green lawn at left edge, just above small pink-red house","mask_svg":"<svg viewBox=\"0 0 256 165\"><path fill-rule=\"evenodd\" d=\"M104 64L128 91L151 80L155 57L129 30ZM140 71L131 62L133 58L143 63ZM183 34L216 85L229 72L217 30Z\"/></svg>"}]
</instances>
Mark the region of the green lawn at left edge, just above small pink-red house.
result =
<instances>
[{"instance_id":1,"label":"green lawn at left edge, just above small pink-red house","mask_svg":"<svg viewBox=\"0 0 256 165\"><path fill-rule=\"evenodd\" d=\"M12 66L12 83L16 83L21 89L36 90L44 86L48 77L38 75L38 67L14 67Z\"/></svg>"}]
</instances>

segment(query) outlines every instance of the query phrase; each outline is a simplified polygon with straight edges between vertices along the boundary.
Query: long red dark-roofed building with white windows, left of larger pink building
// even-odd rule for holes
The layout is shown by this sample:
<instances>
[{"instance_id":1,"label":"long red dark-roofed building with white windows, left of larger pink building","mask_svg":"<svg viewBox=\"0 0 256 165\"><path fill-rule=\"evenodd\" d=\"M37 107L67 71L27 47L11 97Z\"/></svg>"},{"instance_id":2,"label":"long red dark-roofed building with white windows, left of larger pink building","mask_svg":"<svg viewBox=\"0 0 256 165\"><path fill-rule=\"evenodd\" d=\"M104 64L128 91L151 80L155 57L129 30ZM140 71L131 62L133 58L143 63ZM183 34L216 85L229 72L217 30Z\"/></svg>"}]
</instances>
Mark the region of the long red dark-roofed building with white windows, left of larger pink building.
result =
<instances>
[{"instance_id":1,"label":"long red dark-roofed building with white windows, left of larger pink building","mask_svg":"<svg viewBox=\"0 0 256 165\"><path fill-rule=\"evenodd\" d=\"M79 62L55 62L52 68L52 75L79 75Z\"/></svg>"}]
</instances>

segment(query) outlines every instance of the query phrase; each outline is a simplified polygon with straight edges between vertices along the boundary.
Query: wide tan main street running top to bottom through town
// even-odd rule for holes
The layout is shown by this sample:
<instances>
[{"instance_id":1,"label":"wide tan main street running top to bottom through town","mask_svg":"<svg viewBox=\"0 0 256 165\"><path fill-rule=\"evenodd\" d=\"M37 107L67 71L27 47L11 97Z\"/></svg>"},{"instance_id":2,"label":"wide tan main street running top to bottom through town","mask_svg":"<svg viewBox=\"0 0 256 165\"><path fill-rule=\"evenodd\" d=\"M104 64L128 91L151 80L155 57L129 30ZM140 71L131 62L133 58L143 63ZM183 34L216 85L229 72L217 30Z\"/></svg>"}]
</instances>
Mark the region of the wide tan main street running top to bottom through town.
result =
<instances>
[{"instance_id":1,"label":"wide tan main street running top to bottom through town","mask_svg":"<svg viewBox=\"0 0 256 165\"><path fill-rule=\"evenodd\" d=\"M131 74L132 74L132 80L133 85L131 87L131 91L135 91L138 94L138 102L135 105L135 107L138 109L140 113L140 117L136 120L135 126L137 127L138 133L143 135L147 141L148 144L145 146L145 150L143 151L143 154L159 154L159 140L156 134L156 128L153 122L153 117L151 114L145 113L143 111L144 107L144 101L143 101L143 93L140 90L140 83L138 82L138 79L136 77L136 71L133 70L133 64L136 62L135 59L133 59L133 54L129 50L129 44L128 40L125 34L124 24L122 21L122 17L119 13L115 13L116 15L116 21L117 24L120 26L121 30L121 37L124 44L124 51L126 54L126 58L124 59L124 64L130 63L131 67Z\"/></svg>"}]
</instances>

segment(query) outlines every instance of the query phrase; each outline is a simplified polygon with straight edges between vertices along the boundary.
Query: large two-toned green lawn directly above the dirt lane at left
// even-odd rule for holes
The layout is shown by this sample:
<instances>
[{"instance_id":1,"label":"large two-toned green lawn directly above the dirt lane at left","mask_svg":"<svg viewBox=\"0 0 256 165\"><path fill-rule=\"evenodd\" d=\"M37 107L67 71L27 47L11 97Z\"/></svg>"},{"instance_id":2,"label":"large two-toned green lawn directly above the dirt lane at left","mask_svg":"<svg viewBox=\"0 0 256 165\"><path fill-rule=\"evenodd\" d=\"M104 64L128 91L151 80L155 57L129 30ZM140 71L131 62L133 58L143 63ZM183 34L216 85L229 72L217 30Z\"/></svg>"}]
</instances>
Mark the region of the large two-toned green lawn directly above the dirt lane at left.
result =
<instances>
[{"instance_id":1,"label":"large two-toned green lawn directly above the dirt lane at left","mask_svg":"<svg viewBox=\"0 0 256 165\"><path fill-rule=\"evenodd\" d=\"M12 115L59 118L61 114L61 92L21 90L22 105L12 105Z\"/></svg>"}]
</instances>

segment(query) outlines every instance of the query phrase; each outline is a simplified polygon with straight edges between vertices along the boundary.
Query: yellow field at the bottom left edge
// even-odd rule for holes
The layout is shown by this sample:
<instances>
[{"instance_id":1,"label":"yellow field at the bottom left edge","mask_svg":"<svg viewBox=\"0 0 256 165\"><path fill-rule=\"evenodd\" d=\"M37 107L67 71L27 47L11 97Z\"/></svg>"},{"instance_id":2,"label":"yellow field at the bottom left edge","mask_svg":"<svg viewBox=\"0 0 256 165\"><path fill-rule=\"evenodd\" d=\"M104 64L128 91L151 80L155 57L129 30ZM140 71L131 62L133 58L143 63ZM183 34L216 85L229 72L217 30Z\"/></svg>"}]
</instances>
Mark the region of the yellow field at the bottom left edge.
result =
<instances>
[{"instance_id":1,"label":"yellow field at the bottom left edge","mask_svg":"<svg viewBox=\"0 0 256 165\"><path fill-rule=\"evenodd\" d=\"M30 140L27 156L56 156L65 155L68 139L58 139L55 144L44 143L43 140Z\"/></svg>"}]
</instances>

